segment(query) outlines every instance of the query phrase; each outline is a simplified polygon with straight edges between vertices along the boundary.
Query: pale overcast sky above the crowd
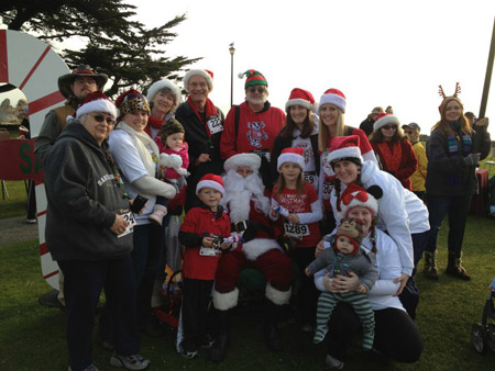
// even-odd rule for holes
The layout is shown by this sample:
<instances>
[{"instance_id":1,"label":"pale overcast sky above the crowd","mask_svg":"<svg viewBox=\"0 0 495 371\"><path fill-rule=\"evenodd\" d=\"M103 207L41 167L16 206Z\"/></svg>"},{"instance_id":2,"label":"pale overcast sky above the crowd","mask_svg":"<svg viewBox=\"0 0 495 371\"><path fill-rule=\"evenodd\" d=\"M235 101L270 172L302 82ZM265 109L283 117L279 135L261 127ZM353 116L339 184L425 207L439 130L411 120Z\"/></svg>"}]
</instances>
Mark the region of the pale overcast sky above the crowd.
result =
<instances>
[{"instance_id":1,"label":"pale overcast sky above the crowd","mask_svg":"<svg viewBox=\"0 0 495 371\"><path fill-rule=\"evenodd\" d=\"M186 13L165 49L170 57L202 57L189 67L213 71L210 99L226 114L232 42L234 104L244 100L244 80L238 74L252 68L265 76L268 100L280 109L294 88L311 91L317 101L327 89L341 90L351 126L359 126L374 106L392 105L400 123L416 122L427 134L439 120L438 86L450 95L455 82L465 111L480 111L493 0L128 2L138 7L138 19L148 27ZM486 116L495 138L495 82Z\"/></svg>"}]
</instances>

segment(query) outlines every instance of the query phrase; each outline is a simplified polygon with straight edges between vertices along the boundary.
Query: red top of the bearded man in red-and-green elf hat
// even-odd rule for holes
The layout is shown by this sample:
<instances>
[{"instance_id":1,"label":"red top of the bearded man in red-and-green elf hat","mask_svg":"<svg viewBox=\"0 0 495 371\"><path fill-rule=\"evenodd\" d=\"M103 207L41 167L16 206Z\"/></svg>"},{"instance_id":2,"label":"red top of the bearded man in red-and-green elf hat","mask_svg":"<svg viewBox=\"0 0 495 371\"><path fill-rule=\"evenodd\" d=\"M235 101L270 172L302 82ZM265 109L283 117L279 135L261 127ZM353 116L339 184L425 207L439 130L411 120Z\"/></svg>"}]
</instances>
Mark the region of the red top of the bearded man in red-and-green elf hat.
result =
<instances>
[{"instance_id":1,"label":"red top of the bearded man in red-and-green elf hat","mask_svg":"<svg viewBox=\"0 0 495 371\"><path fill-rule=\"evenodd\" d=\"M240 106L239 131L235 136L235 108L231 108L223 123L220 139L220 156L228 159L237 154L268 149L285 124L285 113L280 109L265 103L260 112L250 109L248 102Z\"/></svg>"}]
</instances>

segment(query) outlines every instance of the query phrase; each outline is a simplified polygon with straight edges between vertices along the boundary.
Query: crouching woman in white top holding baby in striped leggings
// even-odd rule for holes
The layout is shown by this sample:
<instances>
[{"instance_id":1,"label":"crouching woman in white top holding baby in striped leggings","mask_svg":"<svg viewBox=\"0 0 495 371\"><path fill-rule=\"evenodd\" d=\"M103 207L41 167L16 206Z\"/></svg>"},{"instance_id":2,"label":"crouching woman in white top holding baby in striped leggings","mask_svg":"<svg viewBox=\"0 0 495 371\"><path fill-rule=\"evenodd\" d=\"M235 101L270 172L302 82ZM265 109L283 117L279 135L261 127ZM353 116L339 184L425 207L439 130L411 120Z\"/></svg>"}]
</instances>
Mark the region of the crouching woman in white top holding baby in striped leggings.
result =
<instances>
[{"instance_id":1,"label":"crouching woman in white top holding baby in striped leggings","mask_svg":"<svg viewBox=\"0 0 495 371\"><path fill-rule=\"evenodd\" d=\"M361 187L350 188L353 188L353 191L345 194L341 214L363 222L365 237L361 248L365 252L376 252L378 268L378 280L369 292L370 305L375 314L375 341L372 351L395 361L416 362L421 356L424 345L416 324L396 296L400 285L398 279L405 271L399 249L394 239L374 226L374 216L380 213L380 199L377 201ZM329 246L330 244L326 247ZM354 291L360 285L359 278L352 272L350 277L337 276L330 279L329 276L327 269L315 274L318 290L344 293ZM339 303L329 322L326 363L331 368L342 368L345 349L360 331L361 324L352 306Z\"/></svg>"}]
</instances>

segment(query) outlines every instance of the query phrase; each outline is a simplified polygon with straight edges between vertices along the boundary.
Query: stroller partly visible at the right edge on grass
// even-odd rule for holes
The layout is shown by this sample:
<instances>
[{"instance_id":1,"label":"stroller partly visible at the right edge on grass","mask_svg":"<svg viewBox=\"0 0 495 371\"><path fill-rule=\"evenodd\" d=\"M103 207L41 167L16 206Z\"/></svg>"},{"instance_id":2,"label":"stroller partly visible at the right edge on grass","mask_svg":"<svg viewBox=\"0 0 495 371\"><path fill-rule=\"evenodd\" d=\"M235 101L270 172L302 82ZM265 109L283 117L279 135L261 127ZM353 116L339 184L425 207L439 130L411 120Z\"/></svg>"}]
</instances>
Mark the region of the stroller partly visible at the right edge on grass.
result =
<instances>
[{"instance_id":1,"label":"stroller partly visible at the right edge on grass","mask_svg":"<svg viewBox=\"0 0 495 371\"><path fill-rule=\"evenodd\" d=\"M488 318L495 319L495 279L493 279L488 289L490 294L483 308L482 323L474 324L471 328L471 339L473 341L474 349L476 349L480 353L484 353L487 348L495 351L495 324L488 324Z\"/></svg>"}]
</instances>

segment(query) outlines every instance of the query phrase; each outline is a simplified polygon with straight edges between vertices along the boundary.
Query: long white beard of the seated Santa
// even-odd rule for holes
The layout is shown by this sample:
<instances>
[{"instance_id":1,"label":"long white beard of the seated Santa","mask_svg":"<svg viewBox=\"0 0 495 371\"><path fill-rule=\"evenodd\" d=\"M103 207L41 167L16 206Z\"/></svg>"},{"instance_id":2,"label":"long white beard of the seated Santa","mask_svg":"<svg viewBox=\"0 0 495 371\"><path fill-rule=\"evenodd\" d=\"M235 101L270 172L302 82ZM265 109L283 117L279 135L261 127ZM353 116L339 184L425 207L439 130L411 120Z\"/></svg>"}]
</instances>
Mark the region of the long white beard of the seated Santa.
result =
<instances>
[{"instance_id":1,"label":"long white beard of the seated Santa","mask_svg":"<svg viewBox=\"0 0 495 371\"><path fill-rule=\"evenodd\" d=\"M256 211L268 214L270 200L264 195L265 187L257 172L243 178L235 170L229 170L223 177L223 187L226 194L221 204L227 209L232 223L249 220L251 200Z\"/></svg>"}]
</instances>

